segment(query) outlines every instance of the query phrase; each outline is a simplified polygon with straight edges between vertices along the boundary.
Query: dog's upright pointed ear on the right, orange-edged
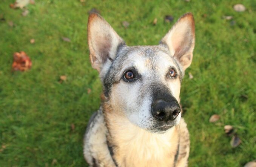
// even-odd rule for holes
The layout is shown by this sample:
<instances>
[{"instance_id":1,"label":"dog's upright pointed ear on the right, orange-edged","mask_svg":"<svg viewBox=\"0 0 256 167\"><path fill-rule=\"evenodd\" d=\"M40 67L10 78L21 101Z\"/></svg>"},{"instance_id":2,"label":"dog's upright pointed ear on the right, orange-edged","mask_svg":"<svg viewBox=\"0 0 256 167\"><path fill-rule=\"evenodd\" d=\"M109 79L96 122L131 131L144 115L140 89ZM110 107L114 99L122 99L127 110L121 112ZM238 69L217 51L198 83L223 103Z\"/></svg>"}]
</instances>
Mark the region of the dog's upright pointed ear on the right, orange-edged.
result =
<instances>
[{"instance_id":1,"label":"dog's upright pointed ear on the right, orange-edged","mask_svg":"<svg viewBox=\"0 0 256 167\"><path fill-rule=\"evenodd\" d=\"M160 43L166 44L170 54L179 61L184 70L187 69L192 62L195 44L193 15L187 13L180 17Z\"/></svg>"}]
</instances>

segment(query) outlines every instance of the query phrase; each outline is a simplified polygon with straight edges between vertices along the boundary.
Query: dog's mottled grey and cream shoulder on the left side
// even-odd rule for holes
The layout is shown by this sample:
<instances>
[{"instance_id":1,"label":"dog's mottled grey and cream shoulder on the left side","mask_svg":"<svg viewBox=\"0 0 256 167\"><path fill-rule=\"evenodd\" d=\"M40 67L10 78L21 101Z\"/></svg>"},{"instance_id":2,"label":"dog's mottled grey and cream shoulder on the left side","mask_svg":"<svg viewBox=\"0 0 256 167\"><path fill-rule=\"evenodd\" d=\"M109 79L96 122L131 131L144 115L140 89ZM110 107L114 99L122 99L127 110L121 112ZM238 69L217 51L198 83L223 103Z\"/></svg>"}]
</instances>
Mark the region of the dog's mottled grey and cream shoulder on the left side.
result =
<instances>
[{"instance_id":1,"label":"dog's mottled grey and cream shoulder on the left side","mask_svg":"<svg viewBox=\"0 0 256 167\"><path fill-rule=\"evenodd\" d=\"M113 163L106 142L107 132L100 107L91 116L84 137L83 154L90 166L105 166Z\"/></svg>"}]
</instances>

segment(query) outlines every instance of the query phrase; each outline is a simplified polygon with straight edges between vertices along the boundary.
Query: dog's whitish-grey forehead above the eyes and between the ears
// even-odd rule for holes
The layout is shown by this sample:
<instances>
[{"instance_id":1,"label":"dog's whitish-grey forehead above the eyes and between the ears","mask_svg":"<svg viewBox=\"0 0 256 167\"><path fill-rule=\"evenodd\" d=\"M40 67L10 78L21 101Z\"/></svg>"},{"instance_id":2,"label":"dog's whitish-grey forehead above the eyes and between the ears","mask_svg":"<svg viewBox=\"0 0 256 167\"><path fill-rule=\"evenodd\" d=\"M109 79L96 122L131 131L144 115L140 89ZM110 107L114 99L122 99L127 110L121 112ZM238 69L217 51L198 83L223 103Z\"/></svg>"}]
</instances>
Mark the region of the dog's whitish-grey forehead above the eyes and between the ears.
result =
<instances>
[{"instance_id":1,"label":"dog's whitish-grey forehead above the eyes and between the ears","mask_svg":"<svg viewBox=\"0 0 256 167\"><path fill-rule=\"evenodd\" d=\"M123 61L123 67L135 67L140 74L153 70L154 72L166 70L176 66L176 62L165 47L161 46L135 46L130 47Z\"/></svg>"}]
</instances>

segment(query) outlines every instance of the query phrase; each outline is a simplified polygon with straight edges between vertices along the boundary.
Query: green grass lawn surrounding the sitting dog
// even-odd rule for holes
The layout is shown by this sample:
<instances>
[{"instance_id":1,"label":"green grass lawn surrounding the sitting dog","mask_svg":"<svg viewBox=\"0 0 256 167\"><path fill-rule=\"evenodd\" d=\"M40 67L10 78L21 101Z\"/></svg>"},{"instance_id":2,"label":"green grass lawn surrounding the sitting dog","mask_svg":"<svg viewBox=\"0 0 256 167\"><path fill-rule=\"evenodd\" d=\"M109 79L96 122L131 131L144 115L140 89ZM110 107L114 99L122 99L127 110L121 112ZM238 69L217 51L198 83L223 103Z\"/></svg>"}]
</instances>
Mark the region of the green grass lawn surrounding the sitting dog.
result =
<instances>
[{"instance_id":1,"label":"green grass lawn surrounding the sitting dog","mask_svg":"<svg viewBox=\"0 0 256 167\"><path fill-rule=\"evenodd\" d=\"M186 73L194 79L185 76L180 95L191 136L189 166L239 167L256 159L255 1L36 0L27 6L26 17L21 9L9 8L13 2L0 2L5 18L0 20L1 166L86 166L83 134L102 90L89 63L86 25L92 8L101 11L128 45L158 44L174 23L164 22L166 14L176 21L193 12L196 46ZM236 3L247 10L235 12ZM235 24L223 15L232 15ZM123 28L122 21L130 26ZM31 70L11 71L17 51L31 57ZM59 83L60 75L67 80ZM221 119L209 123L215 113ZM226 124L236 127L242 140L236 148L224 134Z\"/></svg>"}]
</instances>

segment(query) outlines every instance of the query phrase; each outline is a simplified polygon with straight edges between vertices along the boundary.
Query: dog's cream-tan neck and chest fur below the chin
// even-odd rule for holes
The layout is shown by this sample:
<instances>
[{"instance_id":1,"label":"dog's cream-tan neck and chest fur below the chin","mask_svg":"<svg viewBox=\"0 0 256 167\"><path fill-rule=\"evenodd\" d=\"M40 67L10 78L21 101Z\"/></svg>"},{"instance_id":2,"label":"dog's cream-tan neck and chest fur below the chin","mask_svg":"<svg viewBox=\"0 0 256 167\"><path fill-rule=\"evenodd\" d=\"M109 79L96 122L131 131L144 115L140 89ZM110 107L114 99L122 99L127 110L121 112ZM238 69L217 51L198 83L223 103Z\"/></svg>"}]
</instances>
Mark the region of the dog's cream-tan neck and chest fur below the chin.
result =
<instances>
[{"instance_id":1,"label":"dog's cream-tan neck and chest fur below the chin","mask_svg":"<svg viewBox=\"0 0 256 167\"><path fill-rule=\"evenodd\" d=\"M132 124L116 113L109 103L103 103L103 114L108 129L107 140L113 150L113 159L120 166L173 165L179 144L178 127L165 133L151 133ZM168 162L163 160L170 159ZM141 163L141 164L140 164Z\"/></svg>"}]
</instances>

